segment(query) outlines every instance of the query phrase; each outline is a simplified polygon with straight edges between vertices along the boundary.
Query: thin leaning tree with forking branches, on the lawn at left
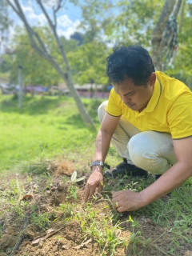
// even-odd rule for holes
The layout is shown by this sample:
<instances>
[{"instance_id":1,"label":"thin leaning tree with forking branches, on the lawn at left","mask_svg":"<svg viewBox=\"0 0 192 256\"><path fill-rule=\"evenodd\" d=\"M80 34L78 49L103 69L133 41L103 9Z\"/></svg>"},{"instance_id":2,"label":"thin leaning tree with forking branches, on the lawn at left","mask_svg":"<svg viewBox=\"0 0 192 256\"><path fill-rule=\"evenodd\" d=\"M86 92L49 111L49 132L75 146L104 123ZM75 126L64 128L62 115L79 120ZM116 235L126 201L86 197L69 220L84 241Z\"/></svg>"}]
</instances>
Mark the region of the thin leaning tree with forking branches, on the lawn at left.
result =
<instances>
[{"instance_id":1,"label":"thin leaning tree with forking branches, on the lawn at left","mask_svg":"<svg viewBox=\"0 0 192 256\"><path fill-rule=\"evenodd\" d=\"M60 52L62 62L65 65L65 70L63 70L62 66L56 61L53 55L50 54L50 49L47 46L46 42L43 41L43 38L38 34L38 31L34 30L32 26L30 26L29 22L27 21L26 15L24 14L21 6L21 2L19 0L7 0L11 8L14 10L16 14L18 14L18 17L22 20L27 34L30 38L30 44L34 48L34 50L42 56L42 58L46 58L51 65L54 67L55 70L58 71L58 74L62 77L62 79L66 82L66 85L68 86L70 90L70 94L73 96L76 105L78 106L79 113L81 114L82 120L86 123L86 126L88 126L91 130L96 130L94 126L94 122L90 118L90 115L86 111L85 106L83 106L81 98L78 95L78 92L74 88L74 83L72 80L71 70L70 70L70 64L68 61L68 58L66 57L66 51L65 48L58 36L57 32L57 14L58 11L61 10L62 4L65 2L63 0L36 0L36 3L38 4L38 8L42 11L42 13L46 17L46 21L50 26L50 30L54 34L54 40L57 44L58 50ZM52 10L52 15L47 10L47 8L50 8Z\"/></svg>"}]
</instances>

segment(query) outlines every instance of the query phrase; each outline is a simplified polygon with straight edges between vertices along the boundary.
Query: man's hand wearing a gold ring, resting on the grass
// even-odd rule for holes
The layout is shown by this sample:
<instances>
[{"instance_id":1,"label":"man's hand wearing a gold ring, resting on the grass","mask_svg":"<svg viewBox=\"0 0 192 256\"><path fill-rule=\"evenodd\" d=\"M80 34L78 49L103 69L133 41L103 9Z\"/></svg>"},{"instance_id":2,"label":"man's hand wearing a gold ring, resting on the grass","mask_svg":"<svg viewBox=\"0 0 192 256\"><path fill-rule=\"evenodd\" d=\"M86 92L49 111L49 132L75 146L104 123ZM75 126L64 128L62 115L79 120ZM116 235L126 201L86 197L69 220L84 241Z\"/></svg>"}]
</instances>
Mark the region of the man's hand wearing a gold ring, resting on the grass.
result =
<instances>
[{"instance_id":1,"label":"man's hand wearing a gold ring, resting on the grass","mask_svg":"<svg viewBox=\"0 0 192 256\"><path fill-rule=\"evenodd\" d=\"M120 213L138 210L144 206L142 195L130 190L112 191L112 203Z\"/></svg>"}]
</instances>

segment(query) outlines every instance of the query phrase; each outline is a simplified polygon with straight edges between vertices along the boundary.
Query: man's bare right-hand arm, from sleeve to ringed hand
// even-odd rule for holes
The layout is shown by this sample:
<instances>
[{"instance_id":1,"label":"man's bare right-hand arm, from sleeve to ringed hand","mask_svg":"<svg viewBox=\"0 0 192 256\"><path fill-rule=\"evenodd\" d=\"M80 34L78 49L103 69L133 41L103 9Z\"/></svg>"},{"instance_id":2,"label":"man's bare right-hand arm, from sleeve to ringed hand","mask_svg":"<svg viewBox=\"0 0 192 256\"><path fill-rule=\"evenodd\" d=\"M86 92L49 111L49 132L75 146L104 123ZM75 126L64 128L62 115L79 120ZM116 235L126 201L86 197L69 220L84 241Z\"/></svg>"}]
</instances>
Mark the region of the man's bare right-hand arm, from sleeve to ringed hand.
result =
<instances>
[{"instance_id":1,"label":"man's bare right-hand arm, from sleeve to ringed hand","mask_svg":"<svg viewBox=\"0 0 192 256\"><path fill-rule=\"evenodd\" d=\"M138 210L168 194L192 176L192 138L174 140L174 154L178 162L145 190L134 193L130 190L113 193L112 202L118 202L118 211Z\"/></svg>"}]
</instances>

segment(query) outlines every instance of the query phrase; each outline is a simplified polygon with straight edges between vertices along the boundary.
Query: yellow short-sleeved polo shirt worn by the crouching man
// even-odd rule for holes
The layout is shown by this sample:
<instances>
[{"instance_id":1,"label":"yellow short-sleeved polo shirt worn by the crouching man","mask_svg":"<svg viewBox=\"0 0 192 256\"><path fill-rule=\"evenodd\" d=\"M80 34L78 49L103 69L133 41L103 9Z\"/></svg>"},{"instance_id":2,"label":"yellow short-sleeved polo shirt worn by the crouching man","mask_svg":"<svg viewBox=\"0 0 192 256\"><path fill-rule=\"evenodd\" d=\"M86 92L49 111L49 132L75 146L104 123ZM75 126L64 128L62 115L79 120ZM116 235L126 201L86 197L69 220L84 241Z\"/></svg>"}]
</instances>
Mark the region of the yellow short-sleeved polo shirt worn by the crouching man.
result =
<instances>
[{"instance_id":1,"label":"yellow short-sleeved polo shirt worn by the crouching man","mask_svg":"<svg viewBox=\"0 0 192 256\"><path fill-rule=\"evenodd\" d=\"M106 111L123 115L138 130L166 132L172 138L192 136L192 92L181 81L156 71L156 82L150 102L141 113L126 106L120 96L110 91Z\"/></svg>"}]
</instances>

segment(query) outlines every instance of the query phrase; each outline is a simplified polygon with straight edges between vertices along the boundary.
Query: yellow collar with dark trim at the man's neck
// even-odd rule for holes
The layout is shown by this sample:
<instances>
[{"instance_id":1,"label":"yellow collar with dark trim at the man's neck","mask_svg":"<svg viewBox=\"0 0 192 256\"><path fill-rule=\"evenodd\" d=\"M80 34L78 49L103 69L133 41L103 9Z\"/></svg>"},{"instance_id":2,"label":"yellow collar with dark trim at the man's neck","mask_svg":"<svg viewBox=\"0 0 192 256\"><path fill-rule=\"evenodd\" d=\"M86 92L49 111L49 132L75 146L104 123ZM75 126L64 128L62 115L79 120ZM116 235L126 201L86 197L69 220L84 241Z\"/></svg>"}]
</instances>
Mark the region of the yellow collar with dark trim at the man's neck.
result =
<instances>
[{"instance_id":1,"label":"yellow collar with dark trim at the man's neck","mask_svg":"<svg viewBox=\"0 0 192 256\"><path fill-rule=\"evenodd\" d=\"M154 84L153 94L150 98L149 103L146 106L146 112L152 112L155 110L156 106L158 105L158 101L160 99L161 94L162 94L162 83L157 78Z\"/></svg>"}]
</instances>

